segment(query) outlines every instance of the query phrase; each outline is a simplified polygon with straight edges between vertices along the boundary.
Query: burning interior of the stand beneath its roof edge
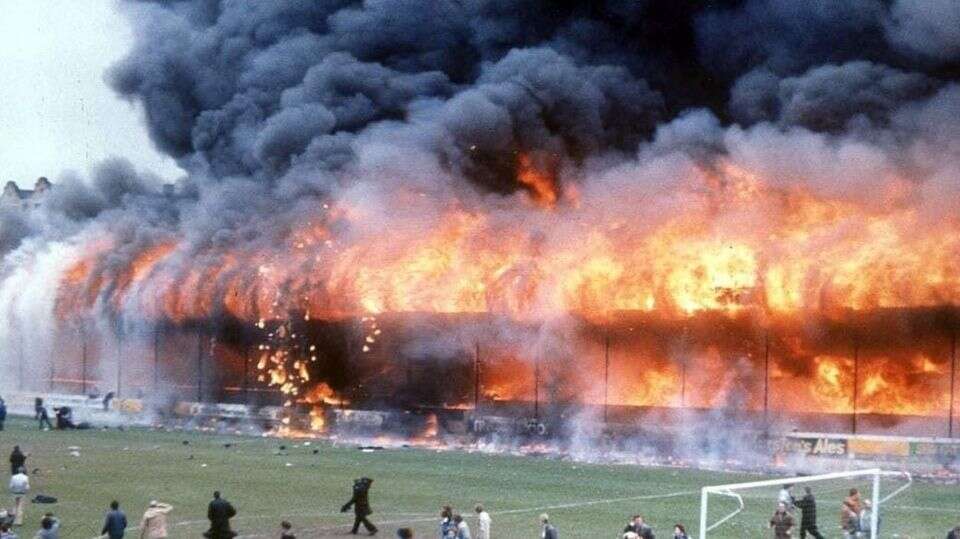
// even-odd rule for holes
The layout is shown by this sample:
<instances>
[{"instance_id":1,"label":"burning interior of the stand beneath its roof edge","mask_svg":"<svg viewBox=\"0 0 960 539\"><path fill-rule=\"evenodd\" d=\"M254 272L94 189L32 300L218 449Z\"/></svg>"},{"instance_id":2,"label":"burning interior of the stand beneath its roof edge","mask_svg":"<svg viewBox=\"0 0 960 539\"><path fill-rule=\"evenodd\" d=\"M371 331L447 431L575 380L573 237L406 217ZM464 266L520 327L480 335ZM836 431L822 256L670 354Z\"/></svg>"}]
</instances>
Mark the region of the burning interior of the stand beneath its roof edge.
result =
<instances>
[{"instance_id":1,"label":"burning interior of the stand beneath its roof edge","mask_svg":"<svg viewBox=\"0 0 960 539\"><path fill-rule=\"evenodd\" d=\"M317 350L310 383L360 407L479 405L537 415L592 406L621 422L649 409L724 409L803 428L939 435L957 407L958 320L953 309L790 319L618 313L549 325L394 314L378 318L375 338L358 319L303 320L296 331ZM282 397L257 368L272 327L219 321L107 337L63 332L47 384L277 404Z\"/></svg>"}]
</instances>

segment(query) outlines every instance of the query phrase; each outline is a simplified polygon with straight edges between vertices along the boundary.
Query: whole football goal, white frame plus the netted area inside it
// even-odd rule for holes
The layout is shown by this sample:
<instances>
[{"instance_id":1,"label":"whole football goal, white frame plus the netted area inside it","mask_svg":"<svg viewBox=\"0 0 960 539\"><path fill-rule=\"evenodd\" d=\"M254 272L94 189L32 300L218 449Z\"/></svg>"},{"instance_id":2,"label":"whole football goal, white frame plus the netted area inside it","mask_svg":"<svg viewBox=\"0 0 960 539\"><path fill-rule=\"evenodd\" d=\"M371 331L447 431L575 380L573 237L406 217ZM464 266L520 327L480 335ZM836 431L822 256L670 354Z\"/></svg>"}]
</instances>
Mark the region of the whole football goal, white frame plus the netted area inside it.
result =
<instances>
[{"instance_id":1,"label":"whole football goal, white frame plus the netted area inside it","mask_svg":"<svg viewBox=\"0 0 960 539\"><path fill-rule=\"evenodd\" d=\"M883 484L881 479L885 478ZM766 481L712 485L700 490L700 539L710 537L745 537L758 535L769 526L781 489L791 485L791 494L800 500L804 487L810 487L817 503L820 532L835 535L840 526L840 509L851 489L857 489L864 507L862 531L856 537L876 539L878 519L883 505L908 489L913 478L906 472L885 471L879 468L821 475L786 477ZM883 488L884 492L881 492ZM794 533L800 529L801 512L790 507L796 522ZM858 520L860 522L860 520Z\"/></svg>"}]
</instances>

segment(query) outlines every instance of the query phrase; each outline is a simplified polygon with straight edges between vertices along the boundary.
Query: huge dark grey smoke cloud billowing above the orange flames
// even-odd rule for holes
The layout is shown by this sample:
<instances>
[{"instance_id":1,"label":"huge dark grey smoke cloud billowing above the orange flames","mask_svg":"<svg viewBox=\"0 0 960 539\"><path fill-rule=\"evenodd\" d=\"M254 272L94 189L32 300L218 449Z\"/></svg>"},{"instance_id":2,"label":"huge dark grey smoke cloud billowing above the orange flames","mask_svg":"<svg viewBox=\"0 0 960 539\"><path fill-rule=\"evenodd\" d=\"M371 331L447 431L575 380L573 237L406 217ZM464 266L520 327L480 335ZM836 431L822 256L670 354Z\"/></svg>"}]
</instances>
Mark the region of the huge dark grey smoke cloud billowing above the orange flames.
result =
<instances>
[{"instance_id":1,"label":"huge dark grey smoke cloud billowing above the orange flames","mask_svg":"<svg viewBox=\"0 0 960 539\"><path fill-rule=\"evenodd\" d=\"M117 245L92 281L111 281L164 241L177 243L164 267L176 283L186 274L178 261L218 266L227 251L288 249L304 223L322 222L338 248L398 227L425 235L443 204L490 210L490 230L529 227L534 255L574 243L576 219L521 204L525 156L577 186L578 219L616 213L644 226L689 208L675 186L703 170L691 163L719 157L774 184L876 206L887 200L872 187L909 176L922 185L896 202L935 209L919 212L932 220L960 200L960 14L950 0L121 6L134 44L105 80L142 104L151 140L185 177L171 194L122 161L89 179L63 175L40 211L0 209L0 276L58 253L57 242L109 236ZM328 215L337 200L363 219ZM734 229L770 217L709 211ZM627 226L611 241L644 234ZM402 247L380 251L389 248ZM251 264L267 262L276 260ZM336 296L336 275L311 263L295 270ZM496 284L523 283L528 269Z\"/></svg>"}]
</instances>

